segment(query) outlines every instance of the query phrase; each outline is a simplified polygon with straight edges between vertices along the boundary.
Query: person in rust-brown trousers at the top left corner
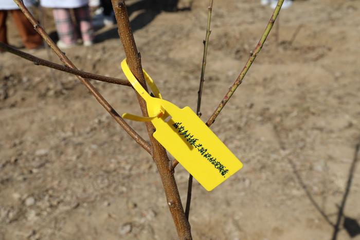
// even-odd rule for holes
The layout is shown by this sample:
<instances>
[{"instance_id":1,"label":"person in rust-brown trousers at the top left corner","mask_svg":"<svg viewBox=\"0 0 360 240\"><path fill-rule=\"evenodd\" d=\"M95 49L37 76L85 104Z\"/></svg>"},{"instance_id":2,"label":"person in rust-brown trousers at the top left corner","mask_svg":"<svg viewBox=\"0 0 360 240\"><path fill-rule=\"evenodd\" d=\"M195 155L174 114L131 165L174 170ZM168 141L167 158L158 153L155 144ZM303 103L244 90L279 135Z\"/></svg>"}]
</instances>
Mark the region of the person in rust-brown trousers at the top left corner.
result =
<instances>
[{"instance_id":1,"label":"person in rust-brown trousers at the top left corner","mask_svg":"<svg viewBox=\"0 0 360 240\"><path fill-rule=\"evenodd\" d=\"M26 7L31 6L31 3L27 0L24 0L24 4ZM24 13L12 0L0 1L0 42L8 44L6 19L9 13L14 20L17 30L19 30L24 46L28 49L41 47L43 43L41 36L35 31Z\"/></svg>"}]
</instances>

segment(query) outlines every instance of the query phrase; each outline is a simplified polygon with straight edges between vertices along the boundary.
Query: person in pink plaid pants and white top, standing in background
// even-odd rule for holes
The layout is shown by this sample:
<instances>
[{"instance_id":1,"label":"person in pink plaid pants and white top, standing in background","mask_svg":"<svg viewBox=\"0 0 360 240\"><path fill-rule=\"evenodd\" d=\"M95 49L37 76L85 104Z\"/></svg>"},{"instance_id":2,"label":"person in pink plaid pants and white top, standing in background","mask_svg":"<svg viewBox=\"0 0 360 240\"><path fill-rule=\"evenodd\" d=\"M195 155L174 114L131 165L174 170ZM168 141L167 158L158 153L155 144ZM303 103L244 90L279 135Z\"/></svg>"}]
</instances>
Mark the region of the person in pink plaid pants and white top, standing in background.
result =
<instances>
[{"instance_id":1,"label":"person in pink plaid pants and white top, standing in background","mask_svg":"<svg viewBox=\"0 0 360 240\"><path fill-rule=\"evenodd\" d=\"M53 17L59 35L57 43L60 48L70 48L76 45L80 28L84 46L92 46L94 30L91 24L88 0L41 0L41 6L52 8ZM71 18L70 9L73 9L75 21Z\"/></svg>"}]
</instances>

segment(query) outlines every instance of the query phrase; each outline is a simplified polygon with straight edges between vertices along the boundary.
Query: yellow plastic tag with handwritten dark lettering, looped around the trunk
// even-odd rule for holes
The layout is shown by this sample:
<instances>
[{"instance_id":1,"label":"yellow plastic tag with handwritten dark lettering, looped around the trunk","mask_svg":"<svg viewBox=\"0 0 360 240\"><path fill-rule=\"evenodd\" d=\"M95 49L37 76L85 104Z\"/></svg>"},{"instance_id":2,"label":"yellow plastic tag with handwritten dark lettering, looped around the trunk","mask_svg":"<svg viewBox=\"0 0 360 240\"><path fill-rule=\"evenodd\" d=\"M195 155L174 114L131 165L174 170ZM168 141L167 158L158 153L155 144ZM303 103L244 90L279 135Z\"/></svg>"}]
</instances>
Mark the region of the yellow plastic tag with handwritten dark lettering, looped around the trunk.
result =
<instances>
[{"instance_id":1,"label":"yellow plastic tag with handwritten dark lettering, looped around the trunk","mask_svg":"<svg viewBox=\"0 0 360 240\"><path fill-rule=\"evenodd\" d=\"M220 183L242 168L242 163L225 144L191 110L179 108L161 99L158 88L145 72L145 79L155 97L137 81L126 59L121 68L138 94L146 101L151 117L123 114L123 118L135 121L151 121L156 128L154 138L183 165L183 167L207 190L211 191Z\"/></svg>"}]
</instances>

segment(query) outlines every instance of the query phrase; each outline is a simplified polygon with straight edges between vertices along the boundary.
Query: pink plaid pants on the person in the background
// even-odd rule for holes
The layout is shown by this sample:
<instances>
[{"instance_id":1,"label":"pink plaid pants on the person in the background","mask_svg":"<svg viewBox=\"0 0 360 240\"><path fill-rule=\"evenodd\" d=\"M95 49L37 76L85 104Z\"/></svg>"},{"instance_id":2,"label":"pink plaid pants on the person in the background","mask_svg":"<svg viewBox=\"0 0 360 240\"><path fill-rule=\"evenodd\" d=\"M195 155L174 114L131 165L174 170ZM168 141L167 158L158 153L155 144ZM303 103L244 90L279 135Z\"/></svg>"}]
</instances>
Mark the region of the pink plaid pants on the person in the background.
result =
<instances>
[{"instance_id":1,"label":"pink plaid pants on the person in the background","mask_svg":"<svg viewBox=\"0 0 360 240\"><path fill-rule=\"evenodd\" d=\"M80 8L73 8L76 23L71 18L69 8L55 8L52 10L59 39L65 44L75 44L78 39L78 26L81 32L82 40L93 41L94 30L91 24L89 7L86 5Z\"/></svg>"}]
</instances>

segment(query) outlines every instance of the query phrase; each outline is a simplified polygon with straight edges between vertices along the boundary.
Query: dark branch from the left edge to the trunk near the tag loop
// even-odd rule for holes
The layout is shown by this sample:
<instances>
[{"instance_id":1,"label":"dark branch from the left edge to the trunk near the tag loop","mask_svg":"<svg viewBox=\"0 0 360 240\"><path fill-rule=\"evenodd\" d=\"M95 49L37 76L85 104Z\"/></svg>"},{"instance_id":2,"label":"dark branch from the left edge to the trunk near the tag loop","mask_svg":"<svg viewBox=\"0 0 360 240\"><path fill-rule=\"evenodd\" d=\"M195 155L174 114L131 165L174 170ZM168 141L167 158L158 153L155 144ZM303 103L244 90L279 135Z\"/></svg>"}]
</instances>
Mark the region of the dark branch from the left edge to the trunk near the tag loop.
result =
<instances>
[{"instance_id":1,"label":"dark branch from the left edge to the trunk near the tag loop","mask_svg":"<svg viewBox=\"0 0 360 240\"><path fill-rule=\"evenodd\" d=\"M128 80L106 77L106 76L97 75L97 74L90 73L90 72L80 71L75 68L69 68L67 66L63 66L63 65L60 65L57 63L53 63L53 62L35 57L29 53L20 51L14 47L11 47L5 43L2 43L2 42L0 42L0 49L10 52L12 54L15 54L16 56L19 56L23 59L29 60L29 61L33 62L35 65L50 67L50 68L53 68L53 69L56 69L59 71L68 72L68 73L71 73L71 74L74 74L74 75L77 75L77 76L80 76L83 78L87 78L87 79L93 79L93 80L98 80L101 82L114 83L114 84L119 84L119 85L124 85L124 86L131 86L131 84Z\"/></svg>"}]
</instances>

